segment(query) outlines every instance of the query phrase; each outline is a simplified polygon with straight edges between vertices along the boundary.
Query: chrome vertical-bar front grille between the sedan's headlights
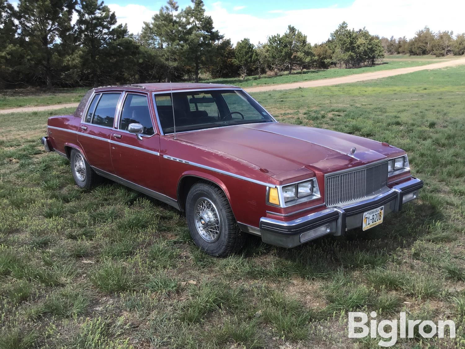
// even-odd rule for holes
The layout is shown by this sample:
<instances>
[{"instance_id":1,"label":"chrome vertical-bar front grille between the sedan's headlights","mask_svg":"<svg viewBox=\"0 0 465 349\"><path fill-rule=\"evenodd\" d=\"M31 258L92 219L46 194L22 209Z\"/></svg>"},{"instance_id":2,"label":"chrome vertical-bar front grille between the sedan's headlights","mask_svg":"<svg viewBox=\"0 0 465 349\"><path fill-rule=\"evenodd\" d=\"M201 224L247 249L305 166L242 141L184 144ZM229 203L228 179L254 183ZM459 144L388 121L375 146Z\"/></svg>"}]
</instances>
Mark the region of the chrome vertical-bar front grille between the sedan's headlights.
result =
<instances>
[{"instance_id":1,"label":"chrome vertical-bar front grille between the sedan's headlights","mask_svg":"<svg viewBox=\"0 0 465 349\"><path fill-rule=\"evenodd\" d=\"M325 177L326 206L345 206L370 199L387 189L387 161Z\"/></svg>"}]
</instances>

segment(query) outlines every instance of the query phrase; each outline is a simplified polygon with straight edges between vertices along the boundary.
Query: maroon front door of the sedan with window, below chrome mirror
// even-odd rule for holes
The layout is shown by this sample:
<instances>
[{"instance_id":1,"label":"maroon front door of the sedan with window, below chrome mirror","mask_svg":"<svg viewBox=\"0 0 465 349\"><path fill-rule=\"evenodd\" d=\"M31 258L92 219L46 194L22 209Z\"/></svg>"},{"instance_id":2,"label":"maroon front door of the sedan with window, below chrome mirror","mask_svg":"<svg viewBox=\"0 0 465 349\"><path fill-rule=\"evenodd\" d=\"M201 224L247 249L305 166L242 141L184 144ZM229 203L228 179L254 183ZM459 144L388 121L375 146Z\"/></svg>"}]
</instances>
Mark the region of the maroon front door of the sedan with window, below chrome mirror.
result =
<instances>
[{"instance_id":1,"label":"maroon front door of the sedan with window, below chrome mirror","mask_svg":"<svg viewBox=\"0 0 465 349\"><path fill-rule=\"evenodd\" d=\"M144 133L127 131L129 124L139 123ZM116 129L110 139L111 157L115 175L144 188L160 192L159 146L160 135L156 133L148 95L125 93Z\"/></svg>"}]
</instances>

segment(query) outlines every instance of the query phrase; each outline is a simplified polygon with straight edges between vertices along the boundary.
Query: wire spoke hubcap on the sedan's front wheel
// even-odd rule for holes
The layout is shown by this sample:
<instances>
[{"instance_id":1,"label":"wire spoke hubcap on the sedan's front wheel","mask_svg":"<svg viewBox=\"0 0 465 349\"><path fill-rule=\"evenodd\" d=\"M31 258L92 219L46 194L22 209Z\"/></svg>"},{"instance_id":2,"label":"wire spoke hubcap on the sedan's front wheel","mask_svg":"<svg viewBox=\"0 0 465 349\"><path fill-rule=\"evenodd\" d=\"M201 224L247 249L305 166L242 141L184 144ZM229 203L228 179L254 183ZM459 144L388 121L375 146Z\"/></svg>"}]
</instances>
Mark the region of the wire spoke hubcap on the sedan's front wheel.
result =
<instances>
[{"instance_id":1,"label":"wire spoke hubcap on the sedan's front wheel","mask_svg":"<svg viewBox=\"0 0 465 349\"><path fill-rule=\"evenodd\" d=\"M206 197L201 197L194 207L195 226L199 235L206 242L217 241L221 231L221 222L216 206Z\"/></svg>"}]
</instances>

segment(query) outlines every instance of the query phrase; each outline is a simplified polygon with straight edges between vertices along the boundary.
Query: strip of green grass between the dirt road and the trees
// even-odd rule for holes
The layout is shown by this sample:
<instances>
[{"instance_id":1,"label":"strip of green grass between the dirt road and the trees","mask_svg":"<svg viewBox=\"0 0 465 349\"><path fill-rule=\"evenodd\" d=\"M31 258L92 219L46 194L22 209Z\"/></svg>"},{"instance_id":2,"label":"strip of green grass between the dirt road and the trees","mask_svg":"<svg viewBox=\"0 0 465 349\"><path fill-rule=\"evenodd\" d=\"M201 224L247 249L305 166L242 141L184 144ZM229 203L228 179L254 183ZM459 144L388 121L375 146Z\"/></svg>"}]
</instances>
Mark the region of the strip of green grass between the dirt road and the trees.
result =
<instances>
[{"instance_id":1,"label":"strip of green grass between the dirt road and the trees","mask_svg":"<svg viewBox=\"0 0 465 349\"><path fill-rule=\"evenodd\" d=\"M396 58L392 59L391 57L396 57ZM412 60L405 60L406 58L410 58L410 57L404 56L404 55L388 56L381 63L373 67L362 67L362 68L355 68L355 69L306 70L303 72L303 74L294 73L292 75L288 75L286 72L283 72L279 76L262 75L260 79L258 76L248 76L246 77L246 80L242 80L241 78L229 78L229 79L207 79L207 80L202 80L201 82L229 84L229 85L236 85L240 87L283 84L283 83L296 82L296 81L336 78L340 76L367 73L367 72L375 72L379 70L422 66L425 64L434 63L429 60L434 59L435 57L434 56L418 56L418 57L413 58ZM52 93L48 93L48 92L41 91L41 90L39 91L36 91L36 90L31 90L31 91L4 90L4 91L0 91L0 110L11 109L14 107L35 107L35 106L46 106L46 105L53 105L53 104L79 102L82 96L84 95L84 93L89 88L87 87L69 88L69 89L60 88L60 89L56 89Z\"/></svg>"}]
</instances>

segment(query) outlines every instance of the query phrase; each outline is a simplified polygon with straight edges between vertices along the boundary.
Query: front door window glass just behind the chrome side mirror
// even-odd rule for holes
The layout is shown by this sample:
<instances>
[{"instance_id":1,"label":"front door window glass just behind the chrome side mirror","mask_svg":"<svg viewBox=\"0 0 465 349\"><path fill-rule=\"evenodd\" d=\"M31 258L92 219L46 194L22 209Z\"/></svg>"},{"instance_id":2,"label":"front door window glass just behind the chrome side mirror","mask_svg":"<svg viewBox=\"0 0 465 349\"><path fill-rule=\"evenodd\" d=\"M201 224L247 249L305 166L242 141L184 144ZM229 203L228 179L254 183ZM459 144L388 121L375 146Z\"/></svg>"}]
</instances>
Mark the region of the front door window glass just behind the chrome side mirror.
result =
<instances>
[{"instance_id":1,"label":"front door window glass just behind the chrome side mirror","mask_svg":"<svg viewBox=\"0 0 465 349\"><path fill-rule=\"evenodd\" d=\"M121 113L120 129L126 130L129 124L138 123L144 126L143 134L154 134L152 119L148 107L147 96L128 94Z\"/></svg>"}]
</instances>

